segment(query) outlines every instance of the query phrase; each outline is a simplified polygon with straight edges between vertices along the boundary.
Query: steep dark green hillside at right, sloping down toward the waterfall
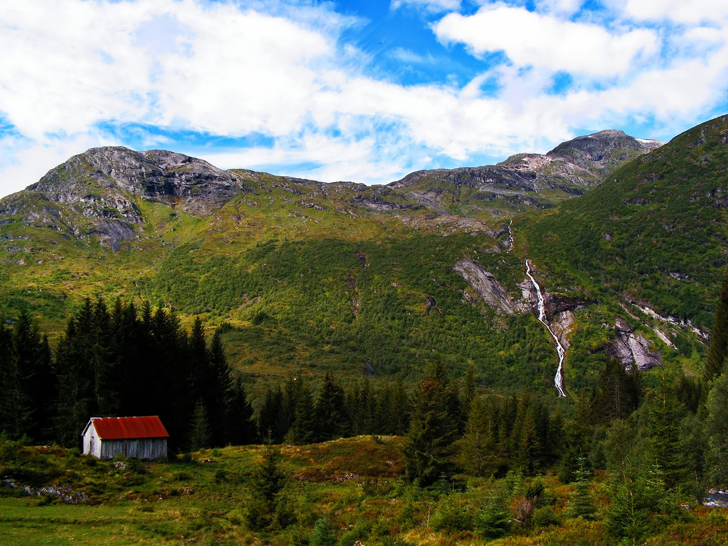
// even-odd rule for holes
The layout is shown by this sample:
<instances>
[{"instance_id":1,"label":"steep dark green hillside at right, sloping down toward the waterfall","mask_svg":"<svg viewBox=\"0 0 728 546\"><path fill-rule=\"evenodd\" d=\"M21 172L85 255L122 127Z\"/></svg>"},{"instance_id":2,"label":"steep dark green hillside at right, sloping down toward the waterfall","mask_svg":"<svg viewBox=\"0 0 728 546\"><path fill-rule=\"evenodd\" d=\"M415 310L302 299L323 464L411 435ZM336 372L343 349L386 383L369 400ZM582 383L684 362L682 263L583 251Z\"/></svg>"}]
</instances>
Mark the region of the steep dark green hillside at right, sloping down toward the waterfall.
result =
<instances>
[{"instance_id":1,"label":"steep dark green hillside at right, sloping down toward the waterfall","mask_svg":"<svg viewBox=\"0 0 728 546\"><path fill-rule=\"evenodd\" d=\"M725 275L728 118L613 173L543 218L522 218L528 253L554 283L623 295L708 331Z\"/></svg>"}]
</instances>

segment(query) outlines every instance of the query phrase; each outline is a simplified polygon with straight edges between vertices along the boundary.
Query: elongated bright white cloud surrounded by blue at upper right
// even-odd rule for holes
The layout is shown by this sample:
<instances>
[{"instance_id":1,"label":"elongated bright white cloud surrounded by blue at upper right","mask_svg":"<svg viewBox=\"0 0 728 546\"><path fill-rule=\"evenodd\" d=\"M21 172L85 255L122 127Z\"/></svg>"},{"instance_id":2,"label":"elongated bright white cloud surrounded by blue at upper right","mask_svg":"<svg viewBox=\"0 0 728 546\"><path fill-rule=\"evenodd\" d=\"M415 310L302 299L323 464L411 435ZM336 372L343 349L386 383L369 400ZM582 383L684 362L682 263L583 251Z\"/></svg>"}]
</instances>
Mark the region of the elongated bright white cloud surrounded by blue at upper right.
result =
<instances>
[{"instance_id":1,"label":"elongated bright white cloud surrounded by blue at upper right","mask_svg":"<svg viewBox=\"0 0 728 546\"><path fill-rule=\"evenodd\" d=\"M475 15L450 13L432 28L441 41L466 44L475 55L502 50L519 66L597 76L623 74L636 56L657 50L657 36L648 29L609 33L503 4Z\"/></svg>"}]
</instances>

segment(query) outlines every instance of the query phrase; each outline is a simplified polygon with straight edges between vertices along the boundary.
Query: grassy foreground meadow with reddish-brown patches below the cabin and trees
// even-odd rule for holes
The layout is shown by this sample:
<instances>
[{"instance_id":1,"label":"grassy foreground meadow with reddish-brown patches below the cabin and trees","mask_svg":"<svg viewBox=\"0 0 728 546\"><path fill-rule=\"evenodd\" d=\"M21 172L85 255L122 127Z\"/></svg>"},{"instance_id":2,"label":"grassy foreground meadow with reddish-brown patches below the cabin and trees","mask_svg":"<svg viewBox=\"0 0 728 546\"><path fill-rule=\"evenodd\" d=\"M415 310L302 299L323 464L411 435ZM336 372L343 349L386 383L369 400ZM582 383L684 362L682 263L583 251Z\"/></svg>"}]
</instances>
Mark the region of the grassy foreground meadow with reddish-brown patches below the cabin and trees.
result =
<instances>
[{"instance_id":1,"label":"grassy foreground meadow with reddish-brown patches below the cabin and trees","mask_svg":"<svg viewBox=\"0 0 728 546\"><path fill-rule=\"evenodd\" d=\"M349 438L282 448L286 486L298 515L298 525L274 533L247 529L243 517L249 499L248 481L258 462L259 446L225 448L195 454L193 462L154 463L145 472L114 468L55 448L23 448L4 454L3 475L17 475L38 487L52 484L83 491L89 503L64 505L52 496L28 496L18 489L0 488L0 542L4 545L74 544L126 545L194 542L201 544L300 544L320 517L333 521L341 544L356 539L377 544L384 537L411 544L480 545L471 531L435 531L440 511L448 505L478 510L498 483L467 479L467 491L422 490L397 480L401 471L401 439ZM202 459L211 462L199 462ZM552 506L561 523L519 526L488 544L494 546L608 545L604 523L566 518L571 486L545 478L543 502ZM594 493L600 513L608 508L604 475ZM515 496L512 509L518 499ZM50 501L50 504L47 502ZM728 531L728 510L694 510L684 523L654 531L651 545L722 544ZM349 532L348 530L354 530ZM360 533L354 537L355 533ZM348 533L348 534L347 534ZM351 539L351 542L347 542Z\"/></svg>"}]
</instances>

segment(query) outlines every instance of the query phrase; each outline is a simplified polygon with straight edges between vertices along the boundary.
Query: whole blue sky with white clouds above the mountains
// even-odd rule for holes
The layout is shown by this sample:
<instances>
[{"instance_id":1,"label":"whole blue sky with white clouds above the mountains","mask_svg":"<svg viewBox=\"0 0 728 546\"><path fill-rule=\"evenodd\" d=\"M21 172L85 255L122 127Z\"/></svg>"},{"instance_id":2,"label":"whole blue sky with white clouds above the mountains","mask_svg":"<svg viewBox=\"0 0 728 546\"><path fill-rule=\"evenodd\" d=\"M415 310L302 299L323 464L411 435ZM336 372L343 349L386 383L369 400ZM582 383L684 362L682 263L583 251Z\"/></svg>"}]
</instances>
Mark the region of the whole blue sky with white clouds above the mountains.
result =
<instances>
[{"instance_id":1,"label":"whole blue sky with white clouds above the mountains","mask_svg":"<svg viewBox=\"0 0 728 546\"><path fill-rule=\"evenodd\" d=\"M728 1L0 0L0 196L94 146L389 183L728 109Z\"/></svg>"}]
</instances>

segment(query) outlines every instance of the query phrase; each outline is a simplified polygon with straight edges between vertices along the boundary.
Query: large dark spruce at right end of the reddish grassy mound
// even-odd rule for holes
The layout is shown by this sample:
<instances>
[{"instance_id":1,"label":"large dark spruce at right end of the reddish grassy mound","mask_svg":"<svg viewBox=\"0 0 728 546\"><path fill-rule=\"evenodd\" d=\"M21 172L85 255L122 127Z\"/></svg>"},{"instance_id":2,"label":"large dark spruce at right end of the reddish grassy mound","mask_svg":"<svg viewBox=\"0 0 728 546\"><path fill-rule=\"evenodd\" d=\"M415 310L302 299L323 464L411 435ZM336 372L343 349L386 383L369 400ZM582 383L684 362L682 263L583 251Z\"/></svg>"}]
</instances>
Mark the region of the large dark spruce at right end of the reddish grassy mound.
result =
<instances>
[{"instance_id":1,"label":"large dark spruce at right end of the reddish grassy mound","mask_svg":"<svg viewBox=\"0 0 728 546\"><path fill-rule=\"evenodd\" d=\"M448 387L445 368L436 363L420 384L412 408L404 447L405 472L408 479L424 485L451 471L457 423L448 414Z\"/></svg>"}]
</instances>

